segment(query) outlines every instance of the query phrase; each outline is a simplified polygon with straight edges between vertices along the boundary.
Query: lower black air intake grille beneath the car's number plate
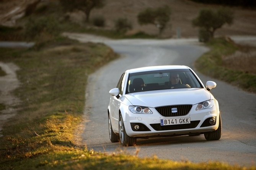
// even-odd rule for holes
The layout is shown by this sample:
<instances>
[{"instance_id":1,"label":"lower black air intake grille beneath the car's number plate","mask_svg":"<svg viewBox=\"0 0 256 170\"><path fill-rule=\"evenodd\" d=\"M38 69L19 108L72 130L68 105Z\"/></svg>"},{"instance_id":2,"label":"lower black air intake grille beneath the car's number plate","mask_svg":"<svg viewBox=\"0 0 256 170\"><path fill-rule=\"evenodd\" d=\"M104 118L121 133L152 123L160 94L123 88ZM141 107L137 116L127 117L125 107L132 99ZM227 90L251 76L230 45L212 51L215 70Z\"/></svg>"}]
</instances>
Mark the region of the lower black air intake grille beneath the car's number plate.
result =
<instances>
[{"instance_id":1,"label":"lower black air intake grille beneath the car's number plate","mask_svg":"<svg viewBox=\"0 0 256 170\"><path fill-rule=\"evenodd\" d=\"M179 129L191 129L196 128L199 124L200 120L191 121L189 124L181 124L181 125L165 125L161 126L160 123L150 124L150 126L157 131L161 130L179 130Z\"/></svg>"}]
</instances>

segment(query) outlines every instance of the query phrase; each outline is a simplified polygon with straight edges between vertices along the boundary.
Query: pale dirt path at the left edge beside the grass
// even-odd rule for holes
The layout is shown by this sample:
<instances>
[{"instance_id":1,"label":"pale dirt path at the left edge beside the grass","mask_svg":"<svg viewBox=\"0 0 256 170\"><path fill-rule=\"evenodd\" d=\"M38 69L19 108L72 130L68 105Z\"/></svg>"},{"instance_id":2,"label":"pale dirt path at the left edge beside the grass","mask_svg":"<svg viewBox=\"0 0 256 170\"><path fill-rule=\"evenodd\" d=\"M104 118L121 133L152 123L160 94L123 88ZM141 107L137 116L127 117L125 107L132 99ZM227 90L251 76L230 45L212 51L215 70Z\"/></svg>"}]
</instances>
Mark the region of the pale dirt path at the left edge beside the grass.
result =
<instances>
[{"instance_id":1,"label":"pale dirt path at the left edge beside the grass","mask_svg":"<svg viewBox=\"0 0 256 170\"><path fill-rule=\"evenodd\" d=\"M0 103L5 105L5 110L0 111L0 136L2 136L3 124L16 114L15 106L20 103L20 100L13 94L20 82L16 76L16 71L19 70L18 66L13 63L0 62L0 67L7 74L0 77Z\"/></svg>"}]
</instances>

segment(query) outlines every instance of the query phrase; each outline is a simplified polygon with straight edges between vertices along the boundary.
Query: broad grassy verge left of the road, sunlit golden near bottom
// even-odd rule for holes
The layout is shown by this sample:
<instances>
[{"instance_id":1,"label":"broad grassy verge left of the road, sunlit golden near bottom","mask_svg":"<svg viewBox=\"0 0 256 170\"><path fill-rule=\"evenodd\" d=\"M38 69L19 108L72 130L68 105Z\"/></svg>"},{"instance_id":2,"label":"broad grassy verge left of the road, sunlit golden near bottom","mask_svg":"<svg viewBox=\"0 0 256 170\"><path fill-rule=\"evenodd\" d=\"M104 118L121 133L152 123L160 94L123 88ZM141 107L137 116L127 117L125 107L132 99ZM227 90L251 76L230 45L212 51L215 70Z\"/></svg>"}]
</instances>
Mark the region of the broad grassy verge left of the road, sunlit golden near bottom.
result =
<instances>
[{"instance_id":1,"label":"broad grassy verge left of the road, sunlit golden near bottom","mask_svg":"<svg viewBox=\"0 0 256 170\"><path fill-rule=\"evenodd\" d=\"M0 61L20 67L21 86L15 94L22 101L18 114L4 126L0 168L12 167L13 161L72 150L73 132L82 121L87 76L117 55L103 44L65 38L48 42L39 51L0 48L0 52Z\"/></svg>"}]
</instances>

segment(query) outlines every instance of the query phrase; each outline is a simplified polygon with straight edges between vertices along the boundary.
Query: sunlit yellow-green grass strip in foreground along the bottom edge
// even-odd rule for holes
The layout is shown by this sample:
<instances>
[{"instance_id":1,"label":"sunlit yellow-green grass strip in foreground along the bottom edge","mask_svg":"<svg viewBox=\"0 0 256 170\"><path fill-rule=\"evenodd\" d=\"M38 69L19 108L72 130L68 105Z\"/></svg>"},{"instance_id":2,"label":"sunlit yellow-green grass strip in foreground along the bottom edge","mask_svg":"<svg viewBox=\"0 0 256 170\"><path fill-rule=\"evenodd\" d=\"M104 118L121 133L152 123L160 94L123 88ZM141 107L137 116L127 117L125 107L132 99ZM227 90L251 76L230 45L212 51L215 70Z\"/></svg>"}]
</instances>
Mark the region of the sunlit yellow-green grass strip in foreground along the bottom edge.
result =
<instances>
[{"instance_id":1,"label":"sunlit yellow-green grass strip in foreground along the bottom edge","mask_svg":"<svg viewBox=\"0 0 256 170\"><path fill-rule=\"evenodd\" d=\"M65 157L64 157L65 156ZM220 162L202 162L194 164L189 161L171 161L156 157L139 159L136 156L103 153L95 153L86 149L73 149L62 152L51 152L47 156L39 155L33 159L23 159L21 162L13 162L18 169L95 169L95 170L241 170L239 166L230 166ZM243 168L243 169L255 169Z\"/></svg>"}]
</instances>

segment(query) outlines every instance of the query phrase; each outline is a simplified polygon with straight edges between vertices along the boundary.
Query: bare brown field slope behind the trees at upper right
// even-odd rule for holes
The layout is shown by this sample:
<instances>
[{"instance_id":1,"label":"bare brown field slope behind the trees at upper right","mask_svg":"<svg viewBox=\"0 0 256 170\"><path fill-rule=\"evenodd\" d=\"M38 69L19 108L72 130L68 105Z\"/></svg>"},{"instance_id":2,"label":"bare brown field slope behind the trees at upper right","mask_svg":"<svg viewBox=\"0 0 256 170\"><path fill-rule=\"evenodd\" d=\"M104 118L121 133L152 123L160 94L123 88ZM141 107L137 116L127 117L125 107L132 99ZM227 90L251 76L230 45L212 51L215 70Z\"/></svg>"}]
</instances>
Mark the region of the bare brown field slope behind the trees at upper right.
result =
<instances>
[{"instance_id":1,"label":"bare brown field slope behind the trees at upper right","mask_svg":"<svg viewBox=\"0 0 256 170\"><path fill-rule=\"evenodd\" d=\"M115 19L127 17L132 21L134 29L155 34L157 32L155 26L140 26L137 23L137 14L145 8L154 8L165 4L169 5L172 9L171 27L165 31L165 36L168 37L175 35L178 27L181 29L182 37L196 36L197 28L191 26L191 20L196 18L202 8L218 9L221 7L217 5L203 5L189 0L106 0L106 6L102 9L94 10L91 17L103 15L107 19L109 27L113 27ZM238 7L232 9L235 12L234 24L231 27L225 26L223 29L218 30L216 35L256 35L256 11Z\"/></svg>"}]
</instances>

